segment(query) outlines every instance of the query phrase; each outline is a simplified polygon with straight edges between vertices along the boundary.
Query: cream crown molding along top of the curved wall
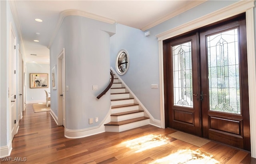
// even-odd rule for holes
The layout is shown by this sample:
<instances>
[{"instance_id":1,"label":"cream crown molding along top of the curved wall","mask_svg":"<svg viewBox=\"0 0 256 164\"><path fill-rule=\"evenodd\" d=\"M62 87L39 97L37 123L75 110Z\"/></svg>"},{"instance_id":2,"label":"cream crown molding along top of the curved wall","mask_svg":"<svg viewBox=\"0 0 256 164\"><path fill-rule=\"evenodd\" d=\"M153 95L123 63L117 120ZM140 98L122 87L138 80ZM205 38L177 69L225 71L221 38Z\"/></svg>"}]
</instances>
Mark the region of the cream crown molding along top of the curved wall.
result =
<instances>
[{"instance_id":1,"label":"cream crown molding along top of the curved wall","mask_svg":"<svg viewBox=\"0 0 256 164\"><path fill-rule=\"evenodd\" d=\"M60 18L58 19L55 30L52 34L52 38L51 38L50 43L49 43L47 48L49 48L49 49L51 48L52 43L54 41L54 38L56 37L56 35L58 33L58 30L60 29L60 26L61 26L61 24L62 24L62 22L63 22L63 20L66 16L83 16L83 17L86 17L86 18L98 20L98 21L101 21L101 22L106 22L106 23L109 23L109 24L116 23L115 20L105 18L103 16L98 16L96 14L92 14L92 13L89 13L89 12L83 12L83 11L80 11L80 10L64 10L63 12L60 13Z\"/></svg>"}]
</instances>

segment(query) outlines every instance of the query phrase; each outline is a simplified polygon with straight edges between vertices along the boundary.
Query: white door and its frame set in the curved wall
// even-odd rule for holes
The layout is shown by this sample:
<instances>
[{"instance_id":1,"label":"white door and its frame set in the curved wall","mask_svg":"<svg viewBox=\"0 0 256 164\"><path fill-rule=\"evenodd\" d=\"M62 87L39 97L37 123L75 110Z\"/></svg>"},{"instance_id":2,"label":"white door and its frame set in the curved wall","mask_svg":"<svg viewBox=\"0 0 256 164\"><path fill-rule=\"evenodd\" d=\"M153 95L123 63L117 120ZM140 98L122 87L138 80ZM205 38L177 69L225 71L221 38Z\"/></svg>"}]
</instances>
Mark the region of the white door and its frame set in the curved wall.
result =
<instances>
[{"instance_id":1,"label":"white door and its frame set in the curved wall","mask_svg":"<svg viewBox=\"0 0 256 164\"><path fill-rule=\"evenodd\" d=\"M63 59L63 63L62 63ZM62 66L63 64L63 66ZM62 70L63 67L63 70ZM66 122L63 122L63 116L66 116L66 104L62 103L62 98L66 100L66 92L64 94L62 93L62 84L66 84L65 81L65 48L60 52L58 55L58 61L57 61L57 78L58 78L58 85L57 85L57 100L58 100L58 125L66 125ZM64 85L65 86L65 85ZM65 87L64 87L65 88ZM60 94L63 94L63 96L60 96ZM66 118L65 118L66 120Z\"/></svg>"}]
</instances>

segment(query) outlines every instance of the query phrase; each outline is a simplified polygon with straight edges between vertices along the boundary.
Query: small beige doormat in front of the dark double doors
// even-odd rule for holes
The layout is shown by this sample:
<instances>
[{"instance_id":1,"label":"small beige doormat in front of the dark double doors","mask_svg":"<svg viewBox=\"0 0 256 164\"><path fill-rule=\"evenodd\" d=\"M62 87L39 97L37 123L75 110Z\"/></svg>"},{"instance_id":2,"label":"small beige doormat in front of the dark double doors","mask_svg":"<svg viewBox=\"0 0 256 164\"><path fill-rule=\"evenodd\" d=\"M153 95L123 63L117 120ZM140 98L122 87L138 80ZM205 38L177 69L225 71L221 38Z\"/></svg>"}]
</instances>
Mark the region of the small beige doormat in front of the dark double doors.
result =
<instances>
[{"instance_id":1,"label":"small beige doormat in front of the dark double doors","mask_svg":"<svg viewBox=\"0 0 256 164\"><path fill-rule=\"evenodd\" d=\"M174 132L172 134L168 134L168 136L176 138L178 140L182 140L184 142L187 142L189 144L192 144L192 145L198 146L198 147L204 146L205 144L210 142L210 140L206 140L204 138L200 138L198 136L194 136L192 134L187 134L187 133L180 132L180 131Z\"/></svg>"}]
</instances>

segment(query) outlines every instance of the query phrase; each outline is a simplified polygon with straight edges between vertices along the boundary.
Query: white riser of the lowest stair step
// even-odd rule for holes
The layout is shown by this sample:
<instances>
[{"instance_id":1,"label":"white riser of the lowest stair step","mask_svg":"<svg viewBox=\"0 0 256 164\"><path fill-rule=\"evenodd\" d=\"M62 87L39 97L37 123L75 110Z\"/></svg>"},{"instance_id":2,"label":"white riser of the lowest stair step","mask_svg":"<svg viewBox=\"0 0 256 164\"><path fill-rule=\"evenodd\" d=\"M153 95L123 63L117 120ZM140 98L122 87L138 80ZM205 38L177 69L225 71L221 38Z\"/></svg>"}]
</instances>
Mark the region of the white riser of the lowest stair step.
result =
<instances>
[{"instance_id":1,"label":"white riser of the lowest stair step","mask_svg":"<svg viewBox=\"0 0 256 164\"><path fill-rule=\"evenodd\" d=\"M122 132L124 130L138 128L140 126L144 126L144 125L148 125L148 124L149 124L149 119L136 121L136 122L132 122L129 124L120 125L120 126L105 125L105 131L106 132Z\"/></svg>"}]
</instances>

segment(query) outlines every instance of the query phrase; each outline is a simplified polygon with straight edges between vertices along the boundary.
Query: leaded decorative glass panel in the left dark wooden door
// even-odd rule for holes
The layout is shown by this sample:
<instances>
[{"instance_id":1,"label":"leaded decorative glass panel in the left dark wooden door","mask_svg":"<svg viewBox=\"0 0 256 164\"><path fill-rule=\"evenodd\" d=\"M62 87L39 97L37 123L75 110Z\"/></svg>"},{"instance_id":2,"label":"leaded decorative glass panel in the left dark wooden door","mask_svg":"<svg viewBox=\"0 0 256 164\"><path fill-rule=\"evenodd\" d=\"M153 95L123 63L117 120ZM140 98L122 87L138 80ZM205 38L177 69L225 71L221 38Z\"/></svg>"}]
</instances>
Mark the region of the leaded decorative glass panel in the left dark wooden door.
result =
<instances>
[{"instance_id":1,"label":"leaded decorative glass panel in the left dark wooden door","mask_svg":"<svg viewBox=\"0 0 256 164\"><path fill-rule=\"evenodd\" d=\"M191 42L173 46L174 105L193 108Z\"/></svg>"}]
</instances>

